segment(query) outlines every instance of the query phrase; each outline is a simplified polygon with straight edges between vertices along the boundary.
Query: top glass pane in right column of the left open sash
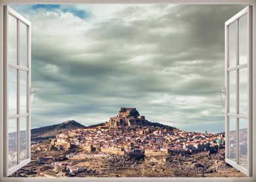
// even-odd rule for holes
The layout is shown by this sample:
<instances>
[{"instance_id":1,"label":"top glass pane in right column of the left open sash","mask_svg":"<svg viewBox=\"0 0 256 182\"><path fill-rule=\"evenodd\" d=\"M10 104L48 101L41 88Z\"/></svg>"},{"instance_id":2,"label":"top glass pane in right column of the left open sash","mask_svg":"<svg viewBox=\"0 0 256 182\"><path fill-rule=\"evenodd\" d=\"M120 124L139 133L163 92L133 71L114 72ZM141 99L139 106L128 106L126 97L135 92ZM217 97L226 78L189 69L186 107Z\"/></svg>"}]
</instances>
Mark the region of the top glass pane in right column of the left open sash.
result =
<instances>
[{"instance_id":1,"label":"top glass pane in right column of the left open sash","mask_svg":"<svg viewBox=\"0 0 256 182\"><path fill-rule=\"evenodd\" d=\"M20 66L27 67L27 26L20 22Z\"/></svg>"}]
</instances>

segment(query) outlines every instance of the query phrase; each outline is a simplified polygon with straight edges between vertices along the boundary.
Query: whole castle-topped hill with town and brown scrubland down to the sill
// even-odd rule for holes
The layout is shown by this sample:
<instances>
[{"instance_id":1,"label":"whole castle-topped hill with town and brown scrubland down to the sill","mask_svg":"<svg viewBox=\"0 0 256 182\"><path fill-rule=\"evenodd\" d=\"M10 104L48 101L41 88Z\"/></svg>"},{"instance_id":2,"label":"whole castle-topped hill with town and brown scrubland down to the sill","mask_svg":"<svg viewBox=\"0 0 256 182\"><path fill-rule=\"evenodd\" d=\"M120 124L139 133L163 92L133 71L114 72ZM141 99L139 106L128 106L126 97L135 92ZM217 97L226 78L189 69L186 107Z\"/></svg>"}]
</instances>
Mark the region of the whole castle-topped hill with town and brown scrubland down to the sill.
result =
<instances>
[{"instance_id":1,"label":"whole castle-topped hill with town and brown scrubland down to the sill","mask_svg":"<svg viewBox=\"0 0 256 182\"><path fill-rule=\"evenodd\" d=\"M239 177L225 163L223 133L195 133L153 123L135 108L108 122L60 131L31 146L24 177Z\"/></svg>"}]
</instances>

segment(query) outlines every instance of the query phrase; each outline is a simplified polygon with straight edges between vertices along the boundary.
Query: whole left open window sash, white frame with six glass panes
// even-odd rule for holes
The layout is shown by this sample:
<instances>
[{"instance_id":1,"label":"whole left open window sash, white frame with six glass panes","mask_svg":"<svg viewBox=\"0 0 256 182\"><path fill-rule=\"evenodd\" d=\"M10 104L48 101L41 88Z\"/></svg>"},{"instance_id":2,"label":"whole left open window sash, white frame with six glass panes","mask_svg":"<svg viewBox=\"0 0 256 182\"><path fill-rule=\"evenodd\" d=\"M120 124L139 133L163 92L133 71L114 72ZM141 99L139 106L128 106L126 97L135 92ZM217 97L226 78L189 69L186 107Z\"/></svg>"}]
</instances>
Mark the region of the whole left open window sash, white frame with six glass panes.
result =
<instances>
[{"instance_id":1,"label":"whole left open window sash, white frame with six glass panes","mask_svg":"<svg viewBox=\"0 0 256 182\"><path fill-rule=\"evenodd\" d=\"M30 162L30 27L5 6L5 175Z\"/></svg>"}]
</instances>

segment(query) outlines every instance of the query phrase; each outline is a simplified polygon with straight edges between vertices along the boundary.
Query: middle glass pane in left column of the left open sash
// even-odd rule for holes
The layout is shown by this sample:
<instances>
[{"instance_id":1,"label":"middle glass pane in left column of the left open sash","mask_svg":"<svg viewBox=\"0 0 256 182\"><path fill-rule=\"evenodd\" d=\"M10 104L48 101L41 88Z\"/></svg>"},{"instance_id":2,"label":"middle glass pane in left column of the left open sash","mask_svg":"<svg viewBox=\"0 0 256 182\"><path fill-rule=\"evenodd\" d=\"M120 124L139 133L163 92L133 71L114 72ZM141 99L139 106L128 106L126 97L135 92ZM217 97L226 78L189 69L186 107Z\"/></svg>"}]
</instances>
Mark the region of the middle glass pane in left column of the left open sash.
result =
<instances>
[{"instance_id":1,"label":"middle glass pane in left column of the left open sash","mask_svg":"<svg viewBox=\"0 0 256 182\"><path fill-rule=\"evenodd\" d=\"M8 110L9 114L17 114L17 70L8 69Z\"/></svg>"}]
</instances>

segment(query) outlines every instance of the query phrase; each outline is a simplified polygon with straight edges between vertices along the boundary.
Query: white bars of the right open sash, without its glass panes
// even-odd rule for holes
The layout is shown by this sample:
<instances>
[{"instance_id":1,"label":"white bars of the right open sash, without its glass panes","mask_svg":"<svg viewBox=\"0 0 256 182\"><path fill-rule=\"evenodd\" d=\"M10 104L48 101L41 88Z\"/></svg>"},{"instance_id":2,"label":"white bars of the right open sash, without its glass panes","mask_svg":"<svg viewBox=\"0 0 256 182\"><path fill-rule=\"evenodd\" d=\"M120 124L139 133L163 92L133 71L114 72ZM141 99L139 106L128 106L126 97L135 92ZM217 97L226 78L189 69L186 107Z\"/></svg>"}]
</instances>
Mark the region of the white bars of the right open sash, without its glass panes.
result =
<instances>
[{"instance_id":1,"label":"white bars of the right open sash, without its glass panes","mask_svg":"<svg viewBox=\"0 0 256 182\"><path fill-rule=\"evenodd\" d=\"M238 23L236 21L238 21L238 19L242 18L243 16L247 15L248 16L248 62L245 64L238 64L238 59L239 59L239 50L238 50L238 45L239 45L239 37L238 37ZM229 68L229 31L228 31L228 26L231 25L232 23L236 22L236 60L234 60L236 63L236 66L234 66L234 68ZM236 15L232 16L231 19L227 20L225 22L225 85L226 85L226 105L225 105L225 161L229 164L231 164L231 166L233 166L234 168L240 170L241 172L243 172L244 174L251 176L251 119L252 119L252 114L251 114L251 90L252 90L252 77L251 77L251 66L252 66L252 57L251 57L251 6L247 6L246 8L244 8L243 10L241 10L240 12L238 12ZM240 99L239 99L239 70L243 69L243 68L248 68L248 110L247 110L247 114L238 114L238 110L239 110L239 103L240 103ZM231 114L231 112L229 112L229 73L235 71L236 72L236 114ZM234 117L236 120L236 162L232 161L232 159L229 159L228 155L229 155L229 120L230 117ZM240 119L246 119L248 120L248 169L244 168L243 166L241 166L239 164L239 156L240 156L240 150L239 150L239 126L238 126L238 120Z\"/></svg>"}]
</instances>

